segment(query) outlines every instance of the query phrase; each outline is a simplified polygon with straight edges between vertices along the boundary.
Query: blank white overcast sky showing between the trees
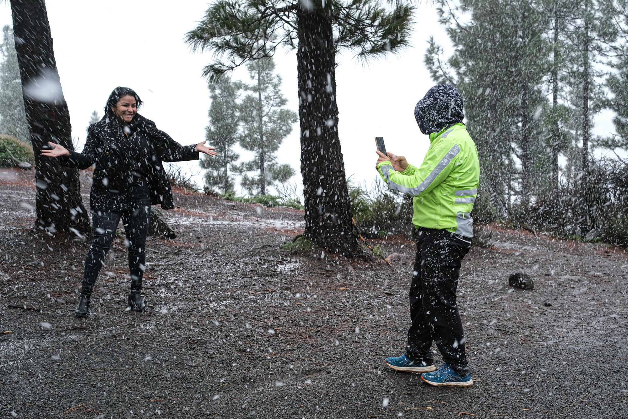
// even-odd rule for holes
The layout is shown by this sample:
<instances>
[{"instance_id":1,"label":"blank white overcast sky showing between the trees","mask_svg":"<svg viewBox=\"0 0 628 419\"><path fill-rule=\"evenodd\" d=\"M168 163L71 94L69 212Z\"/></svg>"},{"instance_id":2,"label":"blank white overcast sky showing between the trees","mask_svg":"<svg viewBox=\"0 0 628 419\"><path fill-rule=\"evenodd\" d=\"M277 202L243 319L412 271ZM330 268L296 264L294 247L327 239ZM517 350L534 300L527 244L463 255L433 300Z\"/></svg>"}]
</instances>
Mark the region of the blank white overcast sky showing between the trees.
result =
<instances>
[{"instance_id":1,"label":"blank white overcast sky showing between the trees","mask_svg":"<svg viewBox=\"0 0 628 419\"><path fill-rule=\"evenodd\" d=\"M210 53L192 53L185 33L195 28L209 1L47 0L48 19L63 94L72 119L72 136L79 150L92 111L102 108L114 87L138 92L144 101L140 113L156 122L182 144L205 138L209 109L207 82L202 68ZM430 36L451 52L451 44L438 24L430 2L421 2L414 14L411 47L399 55L386 55L364 65L349 53L337 58L338 129L347 176L357 182L376 179L374 136L383 136L388 151L420 164L429 139L414 121L414 105L434 84L423 65ZM12 24L9 2L0 2L0 26ZM288 107L297 111L296 53L285 50L275 57L283 78ZM234 79L247 80L246 70ZM597 133L614 131L610 114L595 120ZM244 151L243 157L252 155ZM278 152L280 163L290 163L300 177L298 123ZM200 172L197 162L184 164ZM201 184L200 176L195 177Z\"/></svg>"}]
</instances>

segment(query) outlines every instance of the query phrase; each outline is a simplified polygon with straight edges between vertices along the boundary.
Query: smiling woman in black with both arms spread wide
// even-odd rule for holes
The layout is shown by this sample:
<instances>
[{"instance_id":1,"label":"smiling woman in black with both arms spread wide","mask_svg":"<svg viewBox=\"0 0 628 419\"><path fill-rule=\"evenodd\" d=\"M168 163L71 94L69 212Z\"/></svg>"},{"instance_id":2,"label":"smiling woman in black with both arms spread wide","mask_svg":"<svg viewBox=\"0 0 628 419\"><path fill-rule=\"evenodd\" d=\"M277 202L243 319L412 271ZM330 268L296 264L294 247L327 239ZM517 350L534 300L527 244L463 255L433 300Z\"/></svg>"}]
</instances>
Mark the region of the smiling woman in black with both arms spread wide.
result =
<instances>
[{"instance_id":1,"label":"smiling woman in black with both arms spread wide","mask_svg":"<svg viewBox=\"0 0 628 419\"><path fill-rule=\"evenodd\" d=\"M168 134L157 129L153 121L139 115L142 101L133 89L116 87L109 95L105 116L89 126L87 143L81 153L49 143L50 150L41 155L60 158L62 165L94 168L90 193L90 210L94 241L85 259L82 291L75 310L78 316L87 315L90 297L100 268L117 225L122 219L129 249L131 292L129 307L143 310L142 277L146 259L145 244L151 205L161 204L173 209L170 182L162 161L197 160L198 153L215 156L214 148L204 141L181 146Z\"/></svg>"}]
</instances>

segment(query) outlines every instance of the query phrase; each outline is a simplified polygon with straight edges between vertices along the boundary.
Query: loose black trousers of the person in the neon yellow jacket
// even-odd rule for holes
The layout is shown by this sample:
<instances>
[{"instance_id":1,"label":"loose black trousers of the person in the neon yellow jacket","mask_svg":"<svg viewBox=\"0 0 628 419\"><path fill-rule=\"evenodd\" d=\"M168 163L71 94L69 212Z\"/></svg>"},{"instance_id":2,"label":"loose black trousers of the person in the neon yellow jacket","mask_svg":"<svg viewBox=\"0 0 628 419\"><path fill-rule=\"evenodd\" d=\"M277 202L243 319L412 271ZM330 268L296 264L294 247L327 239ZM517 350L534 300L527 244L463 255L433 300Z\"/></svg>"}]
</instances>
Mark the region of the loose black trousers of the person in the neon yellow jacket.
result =
<instances>
[{"instance_id":1,"label":"loose black trousers of the person in the neon yellow jacket","mask_svg":"<svg viewBox=\"0 0 628 419\"><path fill-rule=\"evenodd\" d=\"M456 303L460 263L470 239L445 230L418 229L416 259L410 286L406 357L419 365L433 364L431 344L457 374L469 372L465 337Z\"/></svg>"}]
</instances>

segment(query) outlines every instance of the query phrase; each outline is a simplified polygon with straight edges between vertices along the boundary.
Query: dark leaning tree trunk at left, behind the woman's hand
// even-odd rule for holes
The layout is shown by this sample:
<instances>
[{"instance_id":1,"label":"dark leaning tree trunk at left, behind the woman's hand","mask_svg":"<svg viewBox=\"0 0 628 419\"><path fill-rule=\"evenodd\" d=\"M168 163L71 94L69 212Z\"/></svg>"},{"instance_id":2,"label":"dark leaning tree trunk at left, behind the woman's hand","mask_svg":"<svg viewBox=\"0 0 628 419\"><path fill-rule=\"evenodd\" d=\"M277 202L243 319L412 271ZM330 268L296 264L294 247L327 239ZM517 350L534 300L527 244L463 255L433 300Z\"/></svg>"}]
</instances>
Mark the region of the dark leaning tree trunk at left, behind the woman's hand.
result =
<instances>
[{"instance_id":1,"label":"dark leaning tree trunk at left, behind the woman's hand","mask_svg":"<svg viewBox=\"0 0 628 419\"><path fill-rule=\"evenodd\" d=\"M78 170L61 166L40 155L48 141L74 150L70 112L63 98L53 52L48 13L43 0L11 0L26 119L35 152L36 229L89 230L89 219L80 195Z\"/></svg>"}]
</instances>

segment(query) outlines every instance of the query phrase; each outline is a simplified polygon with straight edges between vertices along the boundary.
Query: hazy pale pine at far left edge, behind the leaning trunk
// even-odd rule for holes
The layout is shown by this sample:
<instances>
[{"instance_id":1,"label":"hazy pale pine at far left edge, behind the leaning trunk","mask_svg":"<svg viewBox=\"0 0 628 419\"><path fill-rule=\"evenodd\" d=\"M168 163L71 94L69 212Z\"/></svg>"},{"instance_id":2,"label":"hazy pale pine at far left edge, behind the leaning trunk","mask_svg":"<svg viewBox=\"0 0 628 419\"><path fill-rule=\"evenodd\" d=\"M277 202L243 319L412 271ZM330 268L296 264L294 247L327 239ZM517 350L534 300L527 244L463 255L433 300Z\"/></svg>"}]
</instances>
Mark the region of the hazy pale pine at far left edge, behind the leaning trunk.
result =
<instances>
[{"instance_id":1,"label":"hazy pale pine at far left edge, behind the leaning trunk","mask_svg":"<svg viewBox=\"0 0 628 419\"><path fill-rule=\"evenodd\" d=\"M0 133L30 142L28 121L24 112L24 97L19 78L18 55L11 27L3 27L0 45Z\"/></svg>"}]
</instances>

